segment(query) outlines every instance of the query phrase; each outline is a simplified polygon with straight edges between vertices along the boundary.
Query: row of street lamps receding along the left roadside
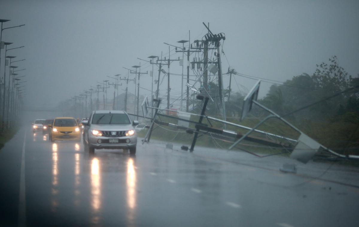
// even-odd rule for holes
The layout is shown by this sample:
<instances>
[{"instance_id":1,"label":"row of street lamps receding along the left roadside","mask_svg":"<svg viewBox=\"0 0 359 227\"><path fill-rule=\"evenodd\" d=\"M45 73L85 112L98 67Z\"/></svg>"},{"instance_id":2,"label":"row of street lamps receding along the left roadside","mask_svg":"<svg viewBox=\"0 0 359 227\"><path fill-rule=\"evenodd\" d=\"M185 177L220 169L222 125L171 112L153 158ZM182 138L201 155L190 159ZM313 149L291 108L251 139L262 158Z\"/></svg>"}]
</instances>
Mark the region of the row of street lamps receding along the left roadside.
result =
<instances>
[{"instance_id":1,"label":"row of street lamps receding along the left roadside","mask_svg":"<svg viewBox=\"0 0 359 227\"><path fill-rule=\"evenodd\" d=\"M15 47L15 48L9 48L8 49L8 45L11 45L13 43L12 42L3 42L3 40L2 40L3 31L5 29L22 27L25 24L22 24L22 25L19 25L19 26L3 28L3 23L8 22L8 21L9 20L6 20L6 19L0 19L0 23L1 23L1 32L0 32L0 44L1 44L1 48L0 48L0 66L1 66L1 49L5 48L4 77L2 78L3 79L2 83L0 84L0 86L1 86L0 87L0 113L1 113L2 130L5 130L5 128L9 129L9 128L11 128L11 126L13 126L16 123L16 120L18 119L19 114L20 114L21 104L22 104L23 99L24 99L24 97L26 95L25 94L26 88L24 88L25 85L22 85L22 83L24 83L26 81L21 81L20 82L20 80L21 80L20 78L25 77L25 75L16 77L18 75L18 73L15 73L15 72L18 72L18 71L23 71L25 69L15 70L15 69L18 68L18 66L11 65L14 62L24 61L25 59L13 61L13 59L16 56L7 55L7 52L9 50L22 48L24 46ZM8 64L9 61L10 61L10 64ZM8 65L9 65L9 78L8 78L8 86L6 87L6 66L8 66ZM11 78L11 76L12 76L12 78ZM2 93L1 93L1 89L3 89ZM7 90L7 94L6 94L6 90Z\"/></svg>"}]
</instances>

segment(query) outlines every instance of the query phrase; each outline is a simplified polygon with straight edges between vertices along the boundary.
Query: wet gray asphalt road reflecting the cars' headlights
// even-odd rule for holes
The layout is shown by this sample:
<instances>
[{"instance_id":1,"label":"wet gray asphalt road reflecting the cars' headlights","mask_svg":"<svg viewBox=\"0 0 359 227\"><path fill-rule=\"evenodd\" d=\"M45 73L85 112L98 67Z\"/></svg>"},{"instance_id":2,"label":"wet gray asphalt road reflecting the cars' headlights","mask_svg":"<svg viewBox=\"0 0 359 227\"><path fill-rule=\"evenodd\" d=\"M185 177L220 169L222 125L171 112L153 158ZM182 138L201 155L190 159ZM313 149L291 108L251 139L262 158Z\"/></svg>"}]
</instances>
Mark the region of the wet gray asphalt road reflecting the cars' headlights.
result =
<instances>
[{"instance_id":1,"label":"wet gray asphalt road reflecting the cars' headlights","mask_svg":"<svg viewBox=\"0 0 359 227\"><path fill-rule=\"evenodd\" d=\"M90 155L22 128L0 151L1 226L358 226L358 168L153 142Z\"/></svg>"}]
</instances>

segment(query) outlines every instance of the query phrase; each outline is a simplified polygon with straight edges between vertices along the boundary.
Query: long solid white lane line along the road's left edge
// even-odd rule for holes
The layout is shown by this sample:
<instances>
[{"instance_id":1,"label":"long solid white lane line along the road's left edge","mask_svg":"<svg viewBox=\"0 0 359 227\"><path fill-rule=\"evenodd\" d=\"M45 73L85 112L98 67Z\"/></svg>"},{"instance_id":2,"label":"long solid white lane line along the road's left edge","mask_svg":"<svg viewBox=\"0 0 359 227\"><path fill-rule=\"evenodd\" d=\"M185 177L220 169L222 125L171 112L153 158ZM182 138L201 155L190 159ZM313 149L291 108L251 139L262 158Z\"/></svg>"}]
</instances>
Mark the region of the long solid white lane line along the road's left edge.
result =
<instances>
[{"instance_id":1,"label":"long solid white lane line along the road's left edge","mask_svg":"<svg viewBox=\"0 0 359 227\"><path fill-rule=\"evenodd\" d=\"M25 136L24 136L23 152L22 152L22 156L21 156L18 226L26 226L25 141L26 141L26 132L25 132Z\"/></svg>"}]
</instances>

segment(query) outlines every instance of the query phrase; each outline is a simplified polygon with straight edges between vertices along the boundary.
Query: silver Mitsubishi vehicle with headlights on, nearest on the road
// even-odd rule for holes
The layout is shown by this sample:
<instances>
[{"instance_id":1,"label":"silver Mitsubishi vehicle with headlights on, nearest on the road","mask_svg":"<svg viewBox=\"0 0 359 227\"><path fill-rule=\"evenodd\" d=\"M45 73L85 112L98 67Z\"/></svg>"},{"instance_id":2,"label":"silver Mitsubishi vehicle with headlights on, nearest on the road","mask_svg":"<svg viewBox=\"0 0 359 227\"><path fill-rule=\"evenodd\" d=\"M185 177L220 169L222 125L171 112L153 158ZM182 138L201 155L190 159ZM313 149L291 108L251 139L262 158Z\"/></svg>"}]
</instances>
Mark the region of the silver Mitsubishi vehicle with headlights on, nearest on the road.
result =
<instances>
[{"instance_id":1,"label":"silver Mitsubishi vehicle with headlights on, nearest on the road","mask_svg":"<svg viewBox=\"0 0 359 227\"><path fill-rule=\"evenodd\" d=\"M93 111L89 120L83 122L84 147L89 153L97 149L125 149L136 153L137 135L129 115L120 110Z\"/></svg>"}]
</instances>

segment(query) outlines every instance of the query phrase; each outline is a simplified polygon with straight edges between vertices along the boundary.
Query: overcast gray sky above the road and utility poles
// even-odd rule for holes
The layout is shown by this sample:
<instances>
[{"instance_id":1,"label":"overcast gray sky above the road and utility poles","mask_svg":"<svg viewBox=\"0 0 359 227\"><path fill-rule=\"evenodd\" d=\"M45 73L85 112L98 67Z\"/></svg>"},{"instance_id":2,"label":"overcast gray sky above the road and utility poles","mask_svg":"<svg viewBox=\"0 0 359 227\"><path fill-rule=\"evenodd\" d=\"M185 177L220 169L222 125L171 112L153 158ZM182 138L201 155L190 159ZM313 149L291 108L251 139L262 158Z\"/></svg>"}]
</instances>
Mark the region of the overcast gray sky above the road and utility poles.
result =
<instances>
[{"instance_id":1,"label":"overcast gray sky above the road and utility poles","mask_svg":"<svg viewBox=\"0 0 359 227\"><path fill-rule=\"evenodd\" d=\"M17 56L16 60L26 58L14 65L26 68L19 76L27 76L27 102L34 106L57 104L107 75L123 77L127 70L122 67L140 64L137 57L146 59L161 51L168 55L163 42L176 45L188 40L188 31L191 42L201 39L206 33L202 22L209 22L213 33L225 33L223 50L228 62L222 56L223 72L230 64L239 73L285 81L302 73L311 75L316 64L336 55L340 65L356 77L358 12L358 0L0 1L0 19L11 19L4 27L26 24L4 30L3 41L14 43L9 48L25 46L8 55ZM182 54L173 55L178 56ZM141 69L146 70L151 70L149 64ZM171 73L181 71L178 62L171 65ZM235 78L234 91L241 88L235 82L248 89L255 83ZM224 86L228 83L229 77L225 77ZM171 77L173 96L180 94L180 84L180 77ZM260 97L270 85L261 84ZM141 77L140 86L151 89L149 75ZM166 89L164 82L160 93L164 95ZM112 88L108 91L111 97ZM129 91L134 92L133 83ZM150 94L144 89L140 92Z\"/></svg>"}]
</instances>

